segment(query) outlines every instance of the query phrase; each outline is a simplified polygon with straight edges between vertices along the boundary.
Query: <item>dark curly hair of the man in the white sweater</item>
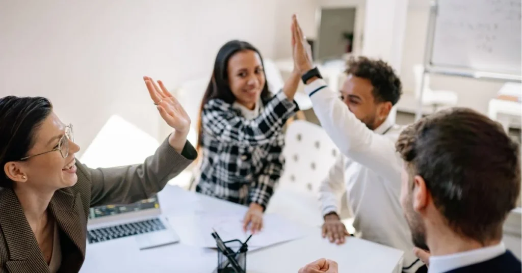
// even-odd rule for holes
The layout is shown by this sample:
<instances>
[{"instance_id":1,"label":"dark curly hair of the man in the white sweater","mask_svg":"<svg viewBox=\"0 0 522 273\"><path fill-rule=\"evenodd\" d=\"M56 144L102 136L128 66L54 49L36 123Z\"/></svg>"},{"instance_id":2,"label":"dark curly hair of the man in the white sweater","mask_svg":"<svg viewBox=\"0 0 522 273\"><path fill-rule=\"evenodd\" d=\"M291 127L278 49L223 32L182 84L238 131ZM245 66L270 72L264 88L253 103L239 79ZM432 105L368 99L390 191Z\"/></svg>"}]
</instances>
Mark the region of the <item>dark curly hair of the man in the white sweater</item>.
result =
<instances>
[{"instance_id":1,"label":"dark curly hair of the man in the white sweater","mask_svg":"<svg viewBox=\"0 0 522 273\"><path fill-rule=\"evenodd\" d=\"M391 66L382 60L351 57L345 71L348 75L370 80L376 102L389 101L395 105L402 94L402 84Z\"/></svg>"}]
</instances>

